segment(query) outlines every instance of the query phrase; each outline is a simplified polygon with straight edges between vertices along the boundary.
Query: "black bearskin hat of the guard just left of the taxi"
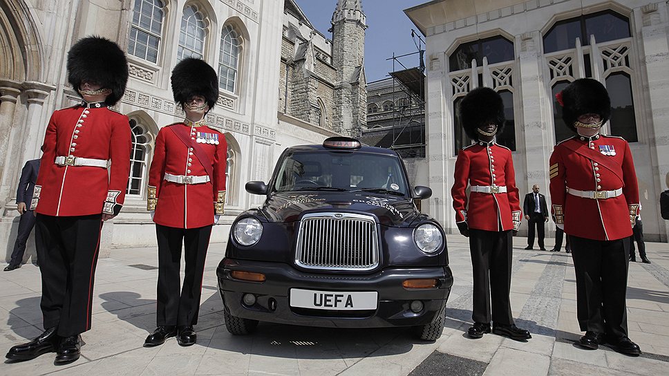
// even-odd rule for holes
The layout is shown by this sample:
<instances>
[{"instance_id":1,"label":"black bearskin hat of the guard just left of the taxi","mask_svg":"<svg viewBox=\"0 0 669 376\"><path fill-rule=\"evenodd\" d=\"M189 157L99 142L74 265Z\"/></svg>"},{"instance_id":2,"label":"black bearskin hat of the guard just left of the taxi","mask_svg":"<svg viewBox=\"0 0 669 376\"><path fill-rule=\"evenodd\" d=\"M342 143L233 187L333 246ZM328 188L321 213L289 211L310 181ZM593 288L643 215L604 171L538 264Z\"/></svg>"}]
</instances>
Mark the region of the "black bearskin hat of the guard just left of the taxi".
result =
<instances>
[{"instance_id":1,"label":"black bearskin hat of the guard just left of the taxi","mask_svg":"<svg viewBox=\"0 0 669 376\"><path fill-rule=\"evenodd\" d=\"M214 108L218 100L218 75L203 60L193 57L183 59L174 67L171 80L175 102L185 104L194 95L202 95L209 109Z\"/></svg>"}]
</instances>

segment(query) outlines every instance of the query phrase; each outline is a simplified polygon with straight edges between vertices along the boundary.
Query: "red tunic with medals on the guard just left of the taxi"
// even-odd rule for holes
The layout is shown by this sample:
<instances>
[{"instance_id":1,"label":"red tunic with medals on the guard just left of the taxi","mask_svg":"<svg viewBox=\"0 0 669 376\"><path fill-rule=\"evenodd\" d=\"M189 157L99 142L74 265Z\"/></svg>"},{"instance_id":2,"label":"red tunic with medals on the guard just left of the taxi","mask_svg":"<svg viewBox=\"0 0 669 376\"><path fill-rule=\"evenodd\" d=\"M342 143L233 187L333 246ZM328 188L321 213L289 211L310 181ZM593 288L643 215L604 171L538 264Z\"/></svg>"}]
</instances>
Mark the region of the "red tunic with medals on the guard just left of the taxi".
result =
<instances>
[{"instance_id":1,"label":"red tunic with medals on the guard just left of the taxi","mask_svg":"<svg viewBox=\"0 0 669 376\"><path fill-rule=\"evenodd\" d=\"M158 132L156 151L149 170L149 210L156 210L153 222L168 227L191 229L214 224L214 214L223 214L225 203L225 164L227 142L216 129L198 123L176 123ZM185 129L189 146L179 138L176 127ZM200 141L204 142L198 142ZM209 143L214 142L214 143ZM180 184L165 179L176 176L207 176L203 162L194 148L198 145L211 164L213 176L200 184Z\"/></svg>"}]
</instances>

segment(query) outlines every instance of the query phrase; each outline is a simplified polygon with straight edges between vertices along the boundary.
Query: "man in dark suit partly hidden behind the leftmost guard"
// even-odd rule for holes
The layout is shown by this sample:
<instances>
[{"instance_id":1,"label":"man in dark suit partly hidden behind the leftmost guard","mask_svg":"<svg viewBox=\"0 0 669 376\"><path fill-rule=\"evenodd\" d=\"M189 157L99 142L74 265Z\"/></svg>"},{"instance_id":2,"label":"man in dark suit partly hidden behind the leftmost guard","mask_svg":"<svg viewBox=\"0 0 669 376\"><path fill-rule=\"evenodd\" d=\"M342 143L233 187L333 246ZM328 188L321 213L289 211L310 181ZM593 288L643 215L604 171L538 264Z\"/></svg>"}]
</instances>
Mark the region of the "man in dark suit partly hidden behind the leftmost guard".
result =
<instances>
[{"instance_id":1,"label":"man in dark suit partly hidden behind the leftmost guard","mask_svg":"<svg viewBox=\"0 0 669 376\"><path fill-rule=\"evenodd\" d=\"M32 201L32 191L35 189L35 182L37 182L38 171L39 159L29 160L21 170L19 189L17 189L17 211L21 214L19 218L19 231L17 241L14 243L12 259L9 265L5 267L5 272L10 272L21 267L23 252L26 252L28 236L32 232L32 227L35 227L35 214L30 210L30 202Z\"/></svg>"}]
</instances>

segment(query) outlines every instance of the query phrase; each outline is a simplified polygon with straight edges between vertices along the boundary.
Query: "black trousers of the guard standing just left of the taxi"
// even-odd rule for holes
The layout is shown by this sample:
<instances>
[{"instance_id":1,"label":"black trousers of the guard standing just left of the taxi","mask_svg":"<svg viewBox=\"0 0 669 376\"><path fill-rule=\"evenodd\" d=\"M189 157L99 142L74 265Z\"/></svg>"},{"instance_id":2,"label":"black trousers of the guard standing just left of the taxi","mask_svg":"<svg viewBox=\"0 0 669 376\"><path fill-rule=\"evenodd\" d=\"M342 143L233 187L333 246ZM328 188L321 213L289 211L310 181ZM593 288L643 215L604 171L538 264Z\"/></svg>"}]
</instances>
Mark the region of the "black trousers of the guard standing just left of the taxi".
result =
<instances>
[{"instance_id":1,"label":"black trousers of the guard standing just left of the taxi","mask_svg":"<svg viewBox=\"0 0 669 376\"><path fill-rule=\"evenodd\" d=\"M158 238L158 326L185 326L198 323L202 274L209 247L211 225L182 229L156 225ZM181 251L184 250L185 275L181 285ZM181 285L181 289L180 289ZM179 291L181 290L181 291Z\"/></svg>"}]
</instances>

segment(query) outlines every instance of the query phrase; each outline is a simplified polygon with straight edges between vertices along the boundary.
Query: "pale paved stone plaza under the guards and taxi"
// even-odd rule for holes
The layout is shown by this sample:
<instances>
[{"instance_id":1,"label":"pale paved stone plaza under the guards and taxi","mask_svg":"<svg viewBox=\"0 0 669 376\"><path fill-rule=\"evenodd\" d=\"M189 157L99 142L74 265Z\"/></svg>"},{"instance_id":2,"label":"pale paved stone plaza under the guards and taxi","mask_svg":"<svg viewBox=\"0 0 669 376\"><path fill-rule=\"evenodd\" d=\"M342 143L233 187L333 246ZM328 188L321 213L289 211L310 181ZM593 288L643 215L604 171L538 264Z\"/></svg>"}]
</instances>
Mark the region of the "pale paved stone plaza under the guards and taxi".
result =
<instances>
[{"instance_id":1,"label":"pale paved stone plaza under the guards and taxi","mask_svg":"<svg viewBox=\"0 0 669 376\"><path fill-rule=\"evenodd\" d=\"M638 358L608 348L582 350L576 285L569 254L522 250L515 238L511 303L527 343L496 335L469 339L471 264L467 239L449 235L455 275L442 337L420 341L406 328L323 329L261 323L233 337L223 324L216 265L225 244L211 245L202 285L198 344L175 339L143 348L155 327L156 247L112 250L97 265L93 329L82 358L54 366L53 354L0 365L0 375L667 375L669 374L669 245L646 243L652 264L631 263L630 337ZM547 239L547 247L553 244ZM637 258L638 259L638 258ZM0 273L0 351L41 333L40 276L34 265Z\"/></svg>"}]
</instances>

